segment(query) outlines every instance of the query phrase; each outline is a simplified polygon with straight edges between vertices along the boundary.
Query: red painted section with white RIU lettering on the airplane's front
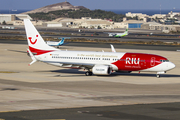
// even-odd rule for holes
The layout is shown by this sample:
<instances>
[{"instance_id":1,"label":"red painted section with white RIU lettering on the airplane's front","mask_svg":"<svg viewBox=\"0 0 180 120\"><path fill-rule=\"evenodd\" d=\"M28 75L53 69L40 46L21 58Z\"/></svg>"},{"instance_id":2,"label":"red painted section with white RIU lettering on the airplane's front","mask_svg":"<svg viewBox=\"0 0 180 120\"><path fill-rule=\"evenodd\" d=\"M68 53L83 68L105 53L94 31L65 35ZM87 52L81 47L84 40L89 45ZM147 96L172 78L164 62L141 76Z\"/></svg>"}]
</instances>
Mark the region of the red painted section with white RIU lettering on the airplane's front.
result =
<instances>
[{"instance_id":1,"label":"red painted section with white RIU lettering on the airplane's front","mask_svg":"<svg viewBox=\"0 0 180 120\"><path fill-rule=\"evenodd\" d=\"M160 60L167 60L167 58L153 54L125 53L122 58L112 64L116 65L118 70L139 71L161 64Z\"/></svg>"}]
</instances>

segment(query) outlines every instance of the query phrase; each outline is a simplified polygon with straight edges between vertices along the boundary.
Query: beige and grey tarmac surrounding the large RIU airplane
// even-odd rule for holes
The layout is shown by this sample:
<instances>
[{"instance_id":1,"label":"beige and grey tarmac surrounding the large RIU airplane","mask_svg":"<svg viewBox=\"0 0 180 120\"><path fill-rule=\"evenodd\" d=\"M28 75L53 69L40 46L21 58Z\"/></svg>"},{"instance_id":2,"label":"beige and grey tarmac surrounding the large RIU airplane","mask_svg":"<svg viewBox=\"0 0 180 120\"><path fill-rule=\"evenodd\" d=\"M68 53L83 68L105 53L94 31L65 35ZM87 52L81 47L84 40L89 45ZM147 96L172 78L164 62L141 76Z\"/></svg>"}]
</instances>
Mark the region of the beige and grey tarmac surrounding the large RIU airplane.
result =
<instances>
[{"instance_id":1,"label":"beige and grey tarmac surrounding the large RIU airplane","mask_svg":"<svg viewBox=\"0 0 180 120\"><path fill-rule=\"evenodd\" d=\"M69 110L61 119L72 120L88 120L93 118L92 115L102 120L180 118L180 52L116 48L117 52L158 54L176 65L175 69L156 78L156 73L138 72L85 76L83 70L60 68L42 62L28 66L31 58L25 53L27 48L24 44L0 44L0 119L13 116L18 116L14 119L59 119L56 110L60 113ZM74 46L62 46L60 49L102 51L102 48ZM111 51L110 48L103 50ZM153 114L150 111L154 109L146 105L159 107ZM95 111L88 112L87 108L94 108L92 111ZM166 112L164 109L167 109ZM32 115L26 114L23 118L27 110L33 110L30 111ZM33 113L37 113L34 110L44 112L32 117ZM71 113L72 110L76 112ZM126 110L131 111L131 117L128 117L130 113ZM81 117L77 117L79 114Z\"/></svg>"}]
</instances>

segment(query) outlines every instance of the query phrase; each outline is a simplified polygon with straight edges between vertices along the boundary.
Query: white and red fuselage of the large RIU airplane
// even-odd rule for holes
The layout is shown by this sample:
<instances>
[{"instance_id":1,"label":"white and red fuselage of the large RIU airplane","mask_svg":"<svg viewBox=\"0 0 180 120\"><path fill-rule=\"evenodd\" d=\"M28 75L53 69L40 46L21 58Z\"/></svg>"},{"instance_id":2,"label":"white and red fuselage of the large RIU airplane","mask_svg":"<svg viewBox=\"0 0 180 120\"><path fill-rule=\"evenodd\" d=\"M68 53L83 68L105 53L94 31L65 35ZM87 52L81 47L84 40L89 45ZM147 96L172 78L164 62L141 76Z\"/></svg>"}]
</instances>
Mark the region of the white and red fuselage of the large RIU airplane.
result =
<instances>
[{"instance_id":1,"label":"white and red fuselage of the large RIU airplane","mask_svg":"<svg viewBox=\"0 0 180 120\"><path fill-rule=\"evenodd\" d=\"M83 65L110 65L113 71L168 71L174 64L165 57L144 53L33 51L36 59L62 67L83 68ZM77 65L76 65L77 64ZM81 65L79 65L81 64Z\"/></svg>"}]
</instances>

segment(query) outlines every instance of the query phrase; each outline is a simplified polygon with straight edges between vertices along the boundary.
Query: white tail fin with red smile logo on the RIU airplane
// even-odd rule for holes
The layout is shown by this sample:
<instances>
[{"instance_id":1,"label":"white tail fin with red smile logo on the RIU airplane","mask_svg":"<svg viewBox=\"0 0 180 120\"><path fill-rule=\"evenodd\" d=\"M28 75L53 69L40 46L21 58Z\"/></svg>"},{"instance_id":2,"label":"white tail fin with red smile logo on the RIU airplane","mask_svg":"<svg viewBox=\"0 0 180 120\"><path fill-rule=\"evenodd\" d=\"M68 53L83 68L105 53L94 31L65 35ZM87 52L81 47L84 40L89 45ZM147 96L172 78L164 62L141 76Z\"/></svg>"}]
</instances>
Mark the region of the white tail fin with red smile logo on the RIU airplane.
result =
<instances>
[{"instance_id":1,"label":"white tail fin with red smile logo on the RIU airplane","mask_svg":"<svg viewBox=\"0 0 180 120\"><path fill-rule=\"evenodd\" d=\"M41 35L39 34L39 32L36 30L36 28L29 19L24 19L24 25L25 25L29 49L31 52L34 53L35 51L41 51L41 50L48 50L48 51L57 50L56 48L46 44L46 42L43 40L43 38L41 37Z\"/></svg>"}]
</instances>

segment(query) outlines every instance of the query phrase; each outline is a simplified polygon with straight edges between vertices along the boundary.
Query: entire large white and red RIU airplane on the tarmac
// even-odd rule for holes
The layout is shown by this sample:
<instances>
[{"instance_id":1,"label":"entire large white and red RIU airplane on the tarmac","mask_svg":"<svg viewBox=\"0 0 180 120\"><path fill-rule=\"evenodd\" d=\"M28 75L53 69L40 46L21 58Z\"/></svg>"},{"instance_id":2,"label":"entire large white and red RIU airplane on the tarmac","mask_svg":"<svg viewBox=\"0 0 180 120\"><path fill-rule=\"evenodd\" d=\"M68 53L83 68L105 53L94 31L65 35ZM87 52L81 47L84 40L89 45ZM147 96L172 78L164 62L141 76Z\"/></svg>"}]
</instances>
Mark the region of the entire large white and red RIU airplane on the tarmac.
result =
<instances>
[{"instance_id":1,"label":"entire large white and red RIU airplane on the tarmac","mask_svg":"<svg viewBox=\"0 0 180 120\"><path fill-rule=\"evenodd\" d=\"M60 67L86 69L88 75L110 75L113 71L149 71L157 77L175 67L165 57L145 53L62 51L46 44L29 19L24 19L28 52L33 64L42 61Z\"/></svg>"}]
</instances>

